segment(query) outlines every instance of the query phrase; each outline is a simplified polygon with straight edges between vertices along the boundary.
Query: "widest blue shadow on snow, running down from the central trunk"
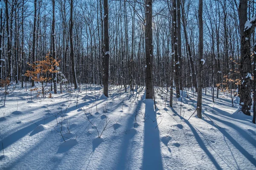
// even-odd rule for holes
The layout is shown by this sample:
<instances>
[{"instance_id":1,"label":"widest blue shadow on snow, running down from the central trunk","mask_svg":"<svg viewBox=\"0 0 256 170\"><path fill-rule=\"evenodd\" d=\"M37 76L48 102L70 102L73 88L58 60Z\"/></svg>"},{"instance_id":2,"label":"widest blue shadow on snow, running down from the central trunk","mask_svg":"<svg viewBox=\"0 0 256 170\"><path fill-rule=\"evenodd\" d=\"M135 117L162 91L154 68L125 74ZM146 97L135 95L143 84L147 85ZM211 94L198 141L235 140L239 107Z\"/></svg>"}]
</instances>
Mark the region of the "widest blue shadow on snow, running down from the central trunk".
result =
<instances>
[{"instance_id":1,"label":"widest blue shadow on snow, running down from the central trunk","mask_svg":"<svg viewBox=\"0 0 256 170\"><path fill-rule=\"evenodd\" d=\"M143 170L162 170L162 156L160 150L159 129L154 111L154 101L145 99L145 116L148 119L144 124ZM154 122L152 122L152 120Z\"/></svg>"}]
</instances>

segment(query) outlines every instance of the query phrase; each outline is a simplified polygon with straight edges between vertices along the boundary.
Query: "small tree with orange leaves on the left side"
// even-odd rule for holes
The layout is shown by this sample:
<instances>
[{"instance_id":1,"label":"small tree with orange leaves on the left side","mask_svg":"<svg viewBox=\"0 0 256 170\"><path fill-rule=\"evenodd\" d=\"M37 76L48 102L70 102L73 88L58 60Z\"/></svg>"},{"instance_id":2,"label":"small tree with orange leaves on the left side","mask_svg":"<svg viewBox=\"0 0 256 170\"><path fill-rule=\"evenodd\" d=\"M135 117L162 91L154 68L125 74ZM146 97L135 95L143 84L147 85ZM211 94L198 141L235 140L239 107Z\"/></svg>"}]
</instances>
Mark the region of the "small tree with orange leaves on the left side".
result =
<instances>
[{"instance_id":1,"label":"small tree with orange leaves on the left side","mask_svg":"<svg viewBox=\"0 0 256 170\"><path fill-rule=\"evenodd\" d=\"M49 54L46 55L45 60L42 61L36 61L33 64L29 64L32 66L32 71L26 71L25 76L31 77L32 80L35 82L41 82L42 84L42 94L43 97L45 97L44 94L44 82L48 82L51 80L51 74L58 73L58 70L55 70L55 67L58 67L59 63L56 59L49 56Z\"/></svg>"}]
</instances>

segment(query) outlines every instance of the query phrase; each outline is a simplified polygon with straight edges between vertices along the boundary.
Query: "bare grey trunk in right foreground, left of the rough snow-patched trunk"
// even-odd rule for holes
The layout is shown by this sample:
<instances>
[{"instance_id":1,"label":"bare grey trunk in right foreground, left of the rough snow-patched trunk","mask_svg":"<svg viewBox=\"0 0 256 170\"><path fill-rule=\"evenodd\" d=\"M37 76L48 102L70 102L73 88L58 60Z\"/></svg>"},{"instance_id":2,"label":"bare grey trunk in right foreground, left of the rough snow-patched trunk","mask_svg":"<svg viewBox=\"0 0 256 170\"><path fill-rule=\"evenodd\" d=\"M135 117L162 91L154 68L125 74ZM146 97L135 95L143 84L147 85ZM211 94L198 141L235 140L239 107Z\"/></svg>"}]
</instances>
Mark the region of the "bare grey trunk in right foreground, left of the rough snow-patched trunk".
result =
<instances>
[{"instance_id":1,"label":"bare grey trunk in right foreground, left of the rough snow-patched trunk","mask_svg":"<svg viewBox=\"0 0 256 170\"><path fill-rule=\"evenodd\" d=\"M203 0L199 0L198 9L199 24L199 49L198 49L198 99L197 99L197 116L202 118L202 72L203 72Z\"/></svg>"}]
</instances>

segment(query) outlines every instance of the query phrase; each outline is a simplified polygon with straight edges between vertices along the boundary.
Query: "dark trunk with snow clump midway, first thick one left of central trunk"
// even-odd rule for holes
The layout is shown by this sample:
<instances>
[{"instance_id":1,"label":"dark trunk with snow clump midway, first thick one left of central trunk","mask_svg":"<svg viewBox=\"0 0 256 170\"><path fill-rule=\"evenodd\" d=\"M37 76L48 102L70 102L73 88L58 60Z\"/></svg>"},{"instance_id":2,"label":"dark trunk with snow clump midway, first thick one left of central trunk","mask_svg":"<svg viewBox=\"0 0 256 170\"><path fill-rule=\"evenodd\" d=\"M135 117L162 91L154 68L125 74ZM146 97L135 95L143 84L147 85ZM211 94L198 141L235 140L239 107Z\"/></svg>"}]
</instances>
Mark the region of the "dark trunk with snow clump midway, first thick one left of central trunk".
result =
<instances>
[{"instance_id":1,"label":"dark trunk with snow clump midway, first thick one left of central trunk","mask_svg":"<svg viewBox=\"0 0 256 170\"><path fill-rule=\"evenodd\" d=\"M104 43L105 56L103 58L103 93L108 97L108 77L109 77L109 37L108 37L108 0L104 0Z\"/></svg>"}]
</instances>

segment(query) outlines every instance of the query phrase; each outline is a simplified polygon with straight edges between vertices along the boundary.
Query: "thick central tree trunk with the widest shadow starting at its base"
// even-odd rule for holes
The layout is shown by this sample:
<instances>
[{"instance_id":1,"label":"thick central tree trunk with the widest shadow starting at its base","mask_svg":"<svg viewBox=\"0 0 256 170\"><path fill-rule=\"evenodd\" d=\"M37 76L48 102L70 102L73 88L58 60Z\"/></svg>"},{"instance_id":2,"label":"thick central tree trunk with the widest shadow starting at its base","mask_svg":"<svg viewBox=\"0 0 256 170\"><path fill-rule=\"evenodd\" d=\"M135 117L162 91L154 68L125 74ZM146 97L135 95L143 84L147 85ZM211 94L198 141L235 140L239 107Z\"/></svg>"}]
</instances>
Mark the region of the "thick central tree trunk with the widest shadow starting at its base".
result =
<instances>
[{"instance_id":1,"label":"thick central tree trunk with the widest shadow starting at its base","mask_svg":"<svg viewBox=\"0 0 256 170\"><path fill-rule=\"evenodd\" d=\"M146 0L145 57L146 99L153 99L153 36L152 36L152 0Z\"/></svg>"}]
</instances>

